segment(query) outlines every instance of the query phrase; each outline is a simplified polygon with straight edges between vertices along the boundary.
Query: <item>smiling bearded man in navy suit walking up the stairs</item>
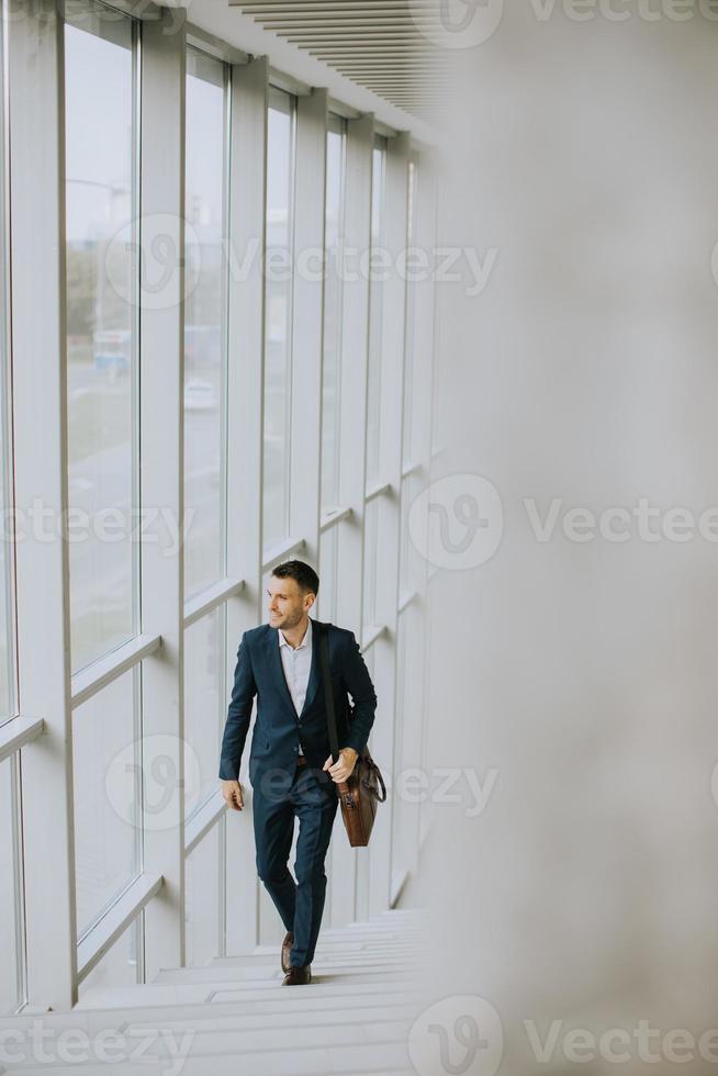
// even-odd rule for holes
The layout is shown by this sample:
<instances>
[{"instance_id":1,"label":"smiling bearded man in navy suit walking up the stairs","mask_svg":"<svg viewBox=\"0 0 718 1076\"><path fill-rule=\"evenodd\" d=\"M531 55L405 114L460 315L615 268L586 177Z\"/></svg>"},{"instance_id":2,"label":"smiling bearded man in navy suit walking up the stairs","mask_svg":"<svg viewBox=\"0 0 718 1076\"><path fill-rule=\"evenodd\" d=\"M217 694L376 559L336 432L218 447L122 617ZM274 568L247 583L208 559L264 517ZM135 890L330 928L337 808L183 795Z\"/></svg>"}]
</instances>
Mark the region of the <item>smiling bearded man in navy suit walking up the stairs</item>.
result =
<instances>
[{"instance_id":1,"label":"smiling bearded man in navy suit walking up the stairs","mask_svg":"<svg viewBox=\"0 0 718 1076\"><path fill-rule=\"evenodd\" d=\"M257 719L249 751L257 873L287 935L284 984L311 982L326 874L324 859L337 812L336 784L346 781L374 721L377 695L354 632L308 617L319 580L308 564L289 560L269 580L269 624L245 631L222 740L222 794L233 810L244 807L239 764L253 700ZM332 760L322 682L319 634L329 642L329 670L339 758ZM354 711L349 721L351 695ZM294 873L288 867L300 820Z\"/></svg>"}]
</instances>

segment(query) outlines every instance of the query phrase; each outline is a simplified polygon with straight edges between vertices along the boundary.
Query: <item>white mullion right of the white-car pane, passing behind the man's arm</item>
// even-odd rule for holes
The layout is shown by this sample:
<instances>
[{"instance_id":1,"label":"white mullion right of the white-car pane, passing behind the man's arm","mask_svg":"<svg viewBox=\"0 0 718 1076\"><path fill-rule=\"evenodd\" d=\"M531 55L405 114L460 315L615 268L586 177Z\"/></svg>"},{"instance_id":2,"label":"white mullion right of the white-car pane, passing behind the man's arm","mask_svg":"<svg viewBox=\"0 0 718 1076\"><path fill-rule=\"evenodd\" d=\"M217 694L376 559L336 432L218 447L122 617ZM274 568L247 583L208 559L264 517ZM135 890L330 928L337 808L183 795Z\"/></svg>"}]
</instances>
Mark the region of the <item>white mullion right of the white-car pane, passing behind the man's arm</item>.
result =
<instances>
[{"instance_id":1,"label":"white mullion right of the white-car pane, passing behind the man's arm","mask_svg":"<svg viewBox=\"0 0 718 1076\"><path fill-rule=\"evenodd\" d=\"M245 586L226 606L226 677L233 683L242 635L257 625L262 595L262 471L266 250L267 105L266 57L233 65L231 71L228 250L227 412L227 575ZM249 255L255 251L254 257ZM244 274L233 271L247 256ZM225 692L225 696L227 693ZM226 715L225 715L226 716ZM247 755L240 781L247 793ZM220 760L217 759L217 773ZM248 802L245 796L245 802ZM224 952L251 952L258 938L258 883L247 870L255 848L246 811L231 811L225 821Z\"/></svg>"}]
</instances>

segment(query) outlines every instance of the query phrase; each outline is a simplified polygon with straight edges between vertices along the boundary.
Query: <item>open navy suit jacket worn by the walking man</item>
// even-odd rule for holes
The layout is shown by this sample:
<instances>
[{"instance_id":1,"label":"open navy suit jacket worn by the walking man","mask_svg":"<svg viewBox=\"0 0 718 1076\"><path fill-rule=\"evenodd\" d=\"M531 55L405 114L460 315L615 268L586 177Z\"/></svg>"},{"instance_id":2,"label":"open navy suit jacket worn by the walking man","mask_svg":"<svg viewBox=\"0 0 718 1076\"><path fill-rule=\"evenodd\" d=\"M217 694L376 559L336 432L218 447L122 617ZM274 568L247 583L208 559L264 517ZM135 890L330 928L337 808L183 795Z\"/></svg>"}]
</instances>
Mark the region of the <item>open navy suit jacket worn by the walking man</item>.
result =
<instances>
[{"instance_id":1,"label":"open navy suit jacket worn by the walking man","mask_svg":"<svg viewBox=\"0 0 718 1076\"><path fill-rule=\"evenodd\" d=\"M283 771L291 780L300 744L310 766L322 770L330 753L319 664L319 632L316 630L317 626L323 625L322 620L312 620L312 664L304 706L299 716L279 652L279 628L262 624L244 632L237 650L234 687L222 739L221 778L239 778L255 695L257 719L248 767L251 784L256 785L262 773L273 769ZM374 686L354 632L334 624L329 624L328 628L329 670L339 748L350 747L361 753L374 722ZM354 703L350 724L347 692ZM332 781L326 772L323 777Z\"/></svg>"}]
</instances>

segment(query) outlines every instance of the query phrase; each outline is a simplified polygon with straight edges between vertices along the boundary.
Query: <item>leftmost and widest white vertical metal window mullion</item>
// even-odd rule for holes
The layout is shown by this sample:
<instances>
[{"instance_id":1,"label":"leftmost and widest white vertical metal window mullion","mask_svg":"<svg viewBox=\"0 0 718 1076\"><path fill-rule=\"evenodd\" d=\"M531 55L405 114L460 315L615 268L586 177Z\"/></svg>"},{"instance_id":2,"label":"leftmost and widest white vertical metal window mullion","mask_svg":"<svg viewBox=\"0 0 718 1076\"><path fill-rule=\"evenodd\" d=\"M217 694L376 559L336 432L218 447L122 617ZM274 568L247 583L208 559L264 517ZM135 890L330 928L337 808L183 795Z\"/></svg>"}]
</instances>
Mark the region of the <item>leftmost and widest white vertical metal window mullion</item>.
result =
<instances>
[{"instance_id":1,"label":"leftmost and widest white vertical metal window mullion","mask_svg":"<svg viewBox=\"0 0 718 1076\"><path fill-rule=\"evenodd\" d=\"M46 729L43 747L33 744L21 756L27 999L43 1009L69 1009L77 1001L77 952L69 559L63 524L68 503L64 33L55 0L37 0L7 29L13 89L15 506L26 513L38 498L63 527L52 542L27 528L15 560L19 703L24 713L42 717Z\"/></svg>"}]
</instances>

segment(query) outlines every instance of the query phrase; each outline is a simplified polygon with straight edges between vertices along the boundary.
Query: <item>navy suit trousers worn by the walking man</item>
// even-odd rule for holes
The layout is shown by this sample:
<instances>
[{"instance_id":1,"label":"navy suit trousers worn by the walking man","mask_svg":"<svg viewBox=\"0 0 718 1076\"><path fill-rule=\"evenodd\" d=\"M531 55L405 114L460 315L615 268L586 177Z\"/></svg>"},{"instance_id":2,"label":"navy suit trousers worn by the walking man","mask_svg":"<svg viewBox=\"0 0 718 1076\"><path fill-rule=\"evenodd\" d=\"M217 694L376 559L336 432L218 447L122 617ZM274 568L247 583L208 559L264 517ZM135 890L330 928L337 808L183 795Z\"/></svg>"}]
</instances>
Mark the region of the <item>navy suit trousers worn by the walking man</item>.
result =
<instances>
[{"instance_id":1,"label":"navy suit trousers worn by the walking man","mask_svg":"<svg viewBox=\"0 0 718 1076\"><path fill-rule=\"evenodd\" d=\"M294 934L290 964L311 964L322 924L326 874L324 860L337 812L336 784L328 774L317 780L310 765L298 766L291 786L272 785L271 770L253 784L253 819L257 849L257 873L281 916L287 930ZM294 818L299 818L299 837L294 875L289 856L294 838Z\"/></svg>"}]
</instances>

